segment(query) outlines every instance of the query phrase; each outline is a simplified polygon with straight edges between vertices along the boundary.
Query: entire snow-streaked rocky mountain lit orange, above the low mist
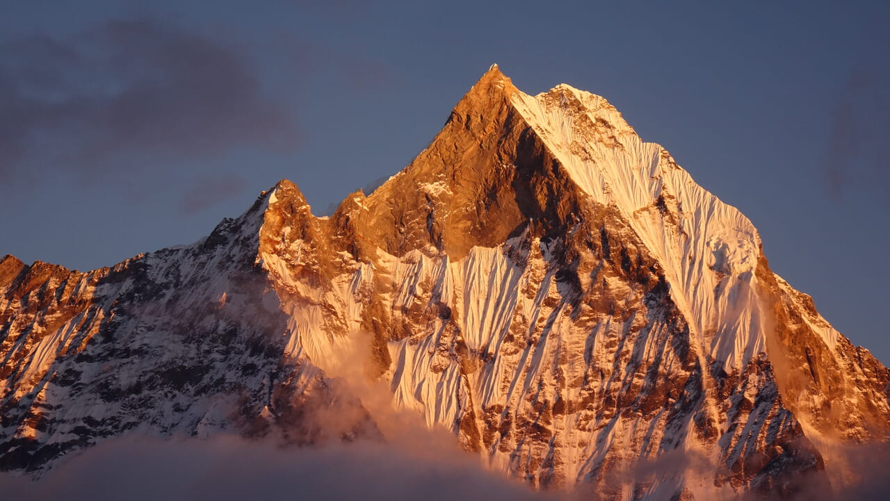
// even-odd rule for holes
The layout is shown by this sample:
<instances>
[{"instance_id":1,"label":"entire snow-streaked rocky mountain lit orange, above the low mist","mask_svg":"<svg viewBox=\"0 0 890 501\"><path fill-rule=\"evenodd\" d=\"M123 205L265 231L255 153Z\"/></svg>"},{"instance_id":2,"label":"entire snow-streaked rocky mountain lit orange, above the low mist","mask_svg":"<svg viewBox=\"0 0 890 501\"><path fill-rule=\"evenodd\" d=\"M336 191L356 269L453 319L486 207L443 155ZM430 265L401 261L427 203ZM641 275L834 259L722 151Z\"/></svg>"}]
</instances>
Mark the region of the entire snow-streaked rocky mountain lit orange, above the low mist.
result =
<instances>
[{"instance_id":1,"label":"entire snow-streaked rocky mountain lit orange, above the low mist","mask_svg":"<svg viewBox=\"0 0 890 501\"><path fill-rule=\"evenodd\" d=\"M35 475L125 433L374 436L349 369L491 468L605 499L838 489L837 451L890 433L890 372L744 215L603 98L497 67L328 218L282 181L113 268L5 256L0 357L0 467Z\"/></svg>"}]
</instances>

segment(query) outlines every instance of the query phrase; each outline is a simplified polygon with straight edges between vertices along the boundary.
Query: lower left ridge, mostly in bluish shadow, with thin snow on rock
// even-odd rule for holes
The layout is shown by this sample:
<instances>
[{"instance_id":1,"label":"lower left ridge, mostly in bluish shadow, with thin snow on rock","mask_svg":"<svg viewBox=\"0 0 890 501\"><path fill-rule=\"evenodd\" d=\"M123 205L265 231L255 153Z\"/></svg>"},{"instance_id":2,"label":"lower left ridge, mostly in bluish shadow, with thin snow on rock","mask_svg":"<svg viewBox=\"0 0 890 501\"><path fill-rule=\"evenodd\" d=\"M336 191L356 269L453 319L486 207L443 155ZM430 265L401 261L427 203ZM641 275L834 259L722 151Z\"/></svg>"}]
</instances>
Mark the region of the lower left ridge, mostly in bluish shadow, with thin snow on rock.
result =
<instances>
[{"instance_id":1,"label":"lower left ridge, mostly in bluish shadow, with thin snow on rock","mask_svg":"<svg viewBox=\"0 0 890 501\"><path fill-rule=\"evenodd\" d=\"M288 318L255 267L264 209L258 200L195 245L89 273L5 256L0 465L40 470L130 430L262 433L285 384L297 396L280 419L324 398L318 372L279 376Z\"/></svg>"}]
</instances>

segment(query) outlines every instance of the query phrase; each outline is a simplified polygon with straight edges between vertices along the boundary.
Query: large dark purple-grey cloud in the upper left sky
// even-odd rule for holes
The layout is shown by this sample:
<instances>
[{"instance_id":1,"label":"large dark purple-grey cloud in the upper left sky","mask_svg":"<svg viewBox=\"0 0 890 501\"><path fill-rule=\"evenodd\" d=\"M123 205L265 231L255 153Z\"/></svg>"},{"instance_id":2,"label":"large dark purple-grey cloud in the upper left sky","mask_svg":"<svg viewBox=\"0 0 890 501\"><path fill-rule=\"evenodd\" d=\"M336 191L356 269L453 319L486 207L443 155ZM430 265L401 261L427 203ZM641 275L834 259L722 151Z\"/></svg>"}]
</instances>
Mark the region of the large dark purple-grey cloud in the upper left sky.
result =
<instances>
[{"instance_id":1,"label":"large dark purple-grey cloud in the upper left sky","mask_svg":"<svg viewBox=\"0 0 890 501\"><path fill-rule=\"evenodd\" d=\"M235 44L155 19L0 46L4 182L175 177L235 149L289 152L295 117Z\"/></svg>"}]
</instances>

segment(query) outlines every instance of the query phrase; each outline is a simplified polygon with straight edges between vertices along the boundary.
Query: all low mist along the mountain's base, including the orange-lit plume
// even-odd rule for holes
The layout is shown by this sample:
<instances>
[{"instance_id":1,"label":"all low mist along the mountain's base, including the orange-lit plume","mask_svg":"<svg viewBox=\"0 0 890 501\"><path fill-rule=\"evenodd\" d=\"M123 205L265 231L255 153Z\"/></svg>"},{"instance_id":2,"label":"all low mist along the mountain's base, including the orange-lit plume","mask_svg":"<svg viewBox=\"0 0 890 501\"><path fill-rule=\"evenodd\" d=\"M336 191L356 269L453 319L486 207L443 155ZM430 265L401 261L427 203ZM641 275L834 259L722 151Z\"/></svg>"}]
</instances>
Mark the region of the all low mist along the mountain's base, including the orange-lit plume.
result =
<instances>
[{"instance_id":1,"label":"all low mist along the mountain's base, including the orange-lit plume","mask_svg":"<svg viewBox=\"0 0 890 501\"><path fill-rule=\"evenodd\" d=\"M357 335L366 336L364 333ZM825 472L792 473L795 485L787 492L777 486L766 492L739 494L727 483L714 486L714 457L676 448L651 460L604 470L595 483L566 486L562 491L535 491L519 479L488 469L485 460L457 447L452 433L430 429L424 419L392 408L389 384L370 381L367 343L344 345L327 360L323 395L306 400L294 423L299 429L319 429L312 447L295 447L283 440L286 429L263 439L247 440L217 434L201 440L174 437L160 440L131 434L101 441L76 457L67 457L38 481L0 473L0 492L9 498L59 501L134 501L168 499L366 499L427 501L451 499L575 501L612 499L636 485L651 489L652 499L674 498L685 485L696 498L725 501L878 501L886 498L890 481L885 467L890 450L883 444L841 445L825 450L831 468L843 465L844 479L827 488ZM336 396L335 396L336 395ZM358 434L359 422L369 422ZM344 437L351 437L343 440ZM72 455L73 456L73 455ZM834 471L834 470L832 470ZM814 475L808 478L806 475ZM786 485L785 488L788 486ZM626 493L627 490L624 491Z\"/></svg>"}]
</instances>

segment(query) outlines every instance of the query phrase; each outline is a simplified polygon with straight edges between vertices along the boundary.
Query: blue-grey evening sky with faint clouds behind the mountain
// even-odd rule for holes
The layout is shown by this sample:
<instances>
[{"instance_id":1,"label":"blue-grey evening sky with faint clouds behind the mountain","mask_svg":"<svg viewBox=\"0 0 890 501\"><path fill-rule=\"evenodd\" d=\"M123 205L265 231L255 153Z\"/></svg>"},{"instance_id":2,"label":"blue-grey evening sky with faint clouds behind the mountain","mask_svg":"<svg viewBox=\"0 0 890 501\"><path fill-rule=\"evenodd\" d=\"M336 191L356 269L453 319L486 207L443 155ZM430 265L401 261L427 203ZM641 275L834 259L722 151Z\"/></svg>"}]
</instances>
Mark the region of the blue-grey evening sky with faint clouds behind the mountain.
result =
<instances>
[{"instance_id":1,"label":"blue-grey evening sky with faint clouds behind the mountain","mask_svg":"<svg viewBox=\"0 0 890 501\"><path fill-rule=\"evenodd\" d=\"M407 165L498 62L611 101L890 362L882 2L0 0L0 255L189 243L281 178L321 213Z\"/></svg>"}]
</instances>

